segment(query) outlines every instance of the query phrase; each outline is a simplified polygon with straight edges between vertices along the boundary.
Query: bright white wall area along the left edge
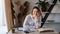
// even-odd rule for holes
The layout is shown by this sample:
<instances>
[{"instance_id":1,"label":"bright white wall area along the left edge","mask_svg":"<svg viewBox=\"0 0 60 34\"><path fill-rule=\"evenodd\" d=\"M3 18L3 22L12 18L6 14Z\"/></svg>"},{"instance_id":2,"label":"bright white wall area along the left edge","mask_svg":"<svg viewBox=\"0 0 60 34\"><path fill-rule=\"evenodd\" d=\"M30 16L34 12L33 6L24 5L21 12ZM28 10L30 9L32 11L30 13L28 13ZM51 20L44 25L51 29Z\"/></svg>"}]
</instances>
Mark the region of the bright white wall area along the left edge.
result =
<instances>
[{"instance_id":1,"label":"bright white wall area along the left edge","mask_svg":"<svg viewBox=\"0 0 60 34\"><path fill-rule=\"evenodd\" d=\"M6 34L7 32L5 0L0 0L0 34Z\"/></svg>"}]
</instances>

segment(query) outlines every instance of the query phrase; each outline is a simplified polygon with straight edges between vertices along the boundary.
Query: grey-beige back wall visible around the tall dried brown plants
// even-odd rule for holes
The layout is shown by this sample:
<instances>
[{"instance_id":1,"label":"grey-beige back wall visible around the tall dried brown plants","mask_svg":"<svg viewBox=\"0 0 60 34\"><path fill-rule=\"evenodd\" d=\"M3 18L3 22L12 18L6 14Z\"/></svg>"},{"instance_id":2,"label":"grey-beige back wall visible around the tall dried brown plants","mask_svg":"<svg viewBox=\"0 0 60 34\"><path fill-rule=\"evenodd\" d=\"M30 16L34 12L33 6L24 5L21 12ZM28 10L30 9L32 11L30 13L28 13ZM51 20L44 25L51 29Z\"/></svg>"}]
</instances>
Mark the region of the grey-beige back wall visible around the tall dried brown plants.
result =
<instances>
[{"instance_id":1,"label":"grey-beige back wall visible around the tall dried brown plants","mask_svg":"<svg viewBox=\"0 0 60 34\"><path fill-rule=\"evenodd\" d=\"M23 5L23 3L25 1L28 1L30 2L30 7L29 7L29 12L31 12L31 9L35 6L35 3L38 1L38 0L12 0L13 2L17 2L17 1L20 1L20 4ZM16 8L15 10L17 10L18 8ZM17 10L17 13L19 13L19 10Z\"/></svg>"}]
</instances>

